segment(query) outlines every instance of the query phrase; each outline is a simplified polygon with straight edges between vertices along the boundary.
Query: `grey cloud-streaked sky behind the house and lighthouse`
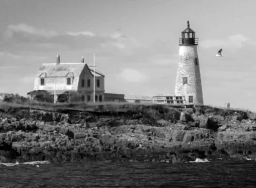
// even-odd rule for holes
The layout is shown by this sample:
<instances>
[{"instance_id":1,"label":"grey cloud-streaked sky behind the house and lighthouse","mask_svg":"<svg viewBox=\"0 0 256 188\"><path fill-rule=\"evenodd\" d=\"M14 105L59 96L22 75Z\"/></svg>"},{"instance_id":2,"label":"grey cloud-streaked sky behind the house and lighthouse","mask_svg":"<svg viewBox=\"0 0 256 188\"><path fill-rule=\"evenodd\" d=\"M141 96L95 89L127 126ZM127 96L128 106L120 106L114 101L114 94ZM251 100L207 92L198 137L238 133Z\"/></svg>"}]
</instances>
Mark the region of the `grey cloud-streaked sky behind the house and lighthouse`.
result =
<instances>
[{"instance_id":1,"label":"grey cloud-streaked sky behind the house and lighthouse","mask_svg":"<svg viewBox=\"0 0 256 188\"><path fill-rule=\"evenodd\" d=\"M254 0L0 0L0 7L0 93L26 96L40 65L57 54L93 64L95 53L106 93L173 94L189 20L205 105L256 111ZM220 48L224 57L216 58Z\"/></svg>"}]
</instances>

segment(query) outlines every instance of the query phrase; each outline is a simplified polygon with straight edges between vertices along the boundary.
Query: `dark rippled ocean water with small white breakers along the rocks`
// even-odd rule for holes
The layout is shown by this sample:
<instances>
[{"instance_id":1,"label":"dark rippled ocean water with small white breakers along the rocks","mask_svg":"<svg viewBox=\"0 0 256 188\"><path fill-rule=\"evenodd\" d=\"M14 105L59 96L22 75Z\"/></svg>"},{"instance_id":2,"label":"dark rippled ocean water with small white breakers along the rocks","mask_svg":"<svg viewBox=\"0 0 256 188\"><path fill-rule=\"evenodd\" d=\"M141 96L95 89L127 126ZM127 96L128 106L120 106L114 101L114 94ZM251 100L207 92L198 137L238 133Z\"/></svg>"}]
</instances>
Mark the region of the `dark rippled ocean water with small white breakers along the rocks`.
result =
<instances>
[{"instance_id":1,"label":"dark rippled ocean water with small white breakers along the rocks","mask_svg":"<svg viewBox=\"0 0 256 188\"><path fill-rule=\"evenodd\" d=\"M256 187L256 161L0 163L0 182L0 187Z\"/></svg>"}]
</instances>

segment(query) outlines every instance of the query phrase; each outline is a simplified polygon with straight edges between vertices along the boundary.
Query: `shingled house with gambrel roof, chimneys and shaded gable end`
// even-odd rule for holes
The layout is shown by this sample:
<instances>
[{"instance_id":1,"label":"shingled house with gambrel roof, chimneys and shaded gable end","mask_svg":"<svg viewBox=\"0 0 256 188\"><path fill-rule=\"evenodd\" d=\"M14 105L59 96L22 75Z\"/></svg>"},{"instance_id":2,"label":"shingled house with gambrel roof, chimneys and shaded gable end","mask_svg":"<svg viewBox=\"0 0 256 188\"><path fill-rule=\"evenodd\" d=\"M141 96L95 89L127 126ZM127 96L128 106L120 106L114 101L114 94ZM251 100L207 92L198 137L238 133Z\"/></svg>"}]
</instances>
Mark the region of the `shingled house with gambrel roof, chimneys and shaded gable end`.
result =
<instances>
[{"instance_id":1,"label":"shingled house with gambrel roof, chimneys and shaded gable end","mask_svg":"<svg viewBox=\"0 0 256 188\"><path fill-rule=\"evenodd\" d=\"M95 101L104 101L104 75L98 67L84 63L60 62L57 56L56 63L42 64L34 79L34 91L45 90L57 97L65 91L77 91L82 95L82 101L94 101L94 75L95 75ZM55 84L56 83L56 84Z\"/></svg>"}]
</instances>

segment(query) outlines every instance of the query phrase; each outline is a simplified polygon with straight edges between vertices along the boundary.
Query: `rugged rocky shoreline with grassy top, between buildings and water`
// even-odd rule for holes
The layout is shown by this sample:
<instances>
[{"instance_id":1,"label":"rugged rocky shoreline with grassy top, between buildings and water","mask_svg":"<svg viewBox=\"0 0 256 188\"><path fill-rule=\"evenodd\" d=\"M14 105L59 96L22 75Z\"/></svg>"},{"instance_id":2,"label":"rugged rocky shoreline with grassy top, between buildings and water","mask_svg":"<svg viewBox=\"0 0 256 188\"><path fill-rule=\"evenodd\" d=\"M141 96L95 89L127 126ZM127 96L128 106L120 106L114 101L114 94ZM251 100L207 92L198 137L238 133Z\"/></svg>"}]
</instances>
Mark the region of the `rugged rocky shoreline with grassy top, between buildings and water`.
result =
<instances>
[{"instance_id":1,"label":"rugged rocky shoreline with grassy top, between buildings and water","mask_svg":"<svg viewBox=\"0 0 256 188\"><path fill-rule=\"evenodd\" d=\"M0 161L256 158L256 114L206 105L0 109Z\"/></svg>"}]
</instances>

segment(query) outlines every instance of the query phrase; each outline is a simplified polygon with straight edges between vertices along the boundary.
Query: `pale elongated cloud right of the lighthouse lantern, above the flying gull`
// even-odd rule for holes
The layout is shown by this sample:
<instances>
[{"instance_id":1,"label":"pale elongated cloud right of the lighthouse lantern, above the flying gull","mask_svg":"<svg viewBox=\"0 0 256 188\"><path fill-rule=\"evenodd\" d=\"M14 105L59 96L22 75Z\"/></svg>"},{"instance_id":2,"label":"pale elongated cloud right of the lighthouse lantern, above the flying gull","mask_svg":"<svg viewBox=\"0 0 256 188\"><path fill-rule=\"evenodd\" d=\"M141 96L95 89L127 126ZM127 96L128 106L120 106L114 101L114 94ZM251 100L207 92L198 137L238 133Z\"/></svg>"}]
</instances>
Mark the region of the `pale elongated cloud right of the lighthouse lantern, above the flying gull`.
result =
<instances>
[{"instance_id":1,"label":"pale elongated cloud right of the lighthouse lantern, above the flying gull","mask_svg":"<svg viewBox=\"0 0 256 188\"><path fill-rule=\"evenodd\" d=\"M242 48L243 44L253 44L250 38L243 34L228 36L222 40L204 40L200 42L203 48Z\"/></svg>"}]
</instances>

